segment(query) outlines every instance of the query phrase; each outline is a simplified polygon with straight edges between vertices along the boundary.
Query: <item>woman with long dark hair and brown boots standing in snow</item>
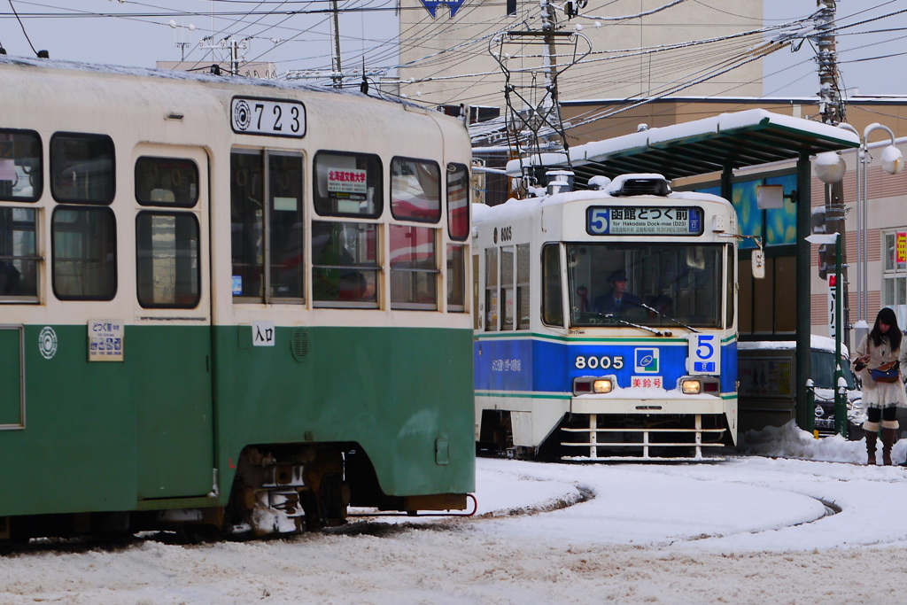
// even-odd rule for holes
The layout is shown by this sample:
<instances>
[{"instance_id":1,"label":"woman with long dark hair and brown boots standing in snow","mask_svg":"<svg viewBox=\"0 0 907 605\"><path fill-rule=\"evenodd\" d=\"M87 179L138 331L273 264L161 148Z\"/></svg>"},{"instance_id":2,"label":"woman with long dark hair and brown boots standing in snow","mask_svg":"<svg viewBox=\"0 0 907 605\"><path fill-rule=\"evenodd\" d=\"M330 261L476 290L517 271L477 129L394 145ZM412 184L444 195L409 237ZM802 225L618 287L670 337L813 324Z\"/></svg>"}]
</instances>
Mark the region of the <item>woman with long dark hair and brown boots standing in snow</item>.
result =
<instances>
[{"instance_id":1,"label":"woman with long dark hair and brown boots standing in snow","mask_svg":"<svg viewBox=\"0 0 907 605\"><path fill-rule=\"evenodd\" d=\"M863 405L866 407L866 453L868 464L875 464L875 444L882 421L882 462L892 464L892 445L898 428L895 417L898 407L907 407L907 395L898 355L901 352L901 330L890 308L883 308L875 317L873 330L856 347L853 369L863 381Z\"/></svg>"}]
</instances>

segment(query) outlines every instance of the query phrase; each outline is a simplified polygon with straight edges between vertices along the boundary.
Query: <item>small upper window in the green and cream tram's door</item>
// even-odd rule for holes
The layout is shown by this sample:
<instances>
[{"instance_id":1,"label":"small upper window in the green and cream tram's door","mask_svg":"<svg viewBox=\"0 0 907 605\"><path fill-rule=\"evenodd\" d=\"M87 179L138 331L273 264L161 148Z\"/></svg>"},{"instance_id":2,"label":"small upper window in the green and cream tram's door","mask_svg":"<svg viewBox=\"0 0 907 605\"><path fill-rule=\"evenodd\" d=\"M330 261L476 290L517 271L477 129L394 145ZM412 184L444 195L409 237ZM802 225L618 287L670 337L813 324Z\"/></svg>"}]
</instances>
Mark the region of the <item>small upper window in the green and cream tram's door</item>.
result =
<instances>
[{"instance_id":1,"label":"small upper window in the green and cream tram's door","mask_svg":"<svg viewBox=\"0 0 907 605\"><path fill-rule=\"evenodd\" d=\"M199 167L182 158L135 161L135 199L142 206L191 208L199 200Z\"/></svg>"}]
</instances>

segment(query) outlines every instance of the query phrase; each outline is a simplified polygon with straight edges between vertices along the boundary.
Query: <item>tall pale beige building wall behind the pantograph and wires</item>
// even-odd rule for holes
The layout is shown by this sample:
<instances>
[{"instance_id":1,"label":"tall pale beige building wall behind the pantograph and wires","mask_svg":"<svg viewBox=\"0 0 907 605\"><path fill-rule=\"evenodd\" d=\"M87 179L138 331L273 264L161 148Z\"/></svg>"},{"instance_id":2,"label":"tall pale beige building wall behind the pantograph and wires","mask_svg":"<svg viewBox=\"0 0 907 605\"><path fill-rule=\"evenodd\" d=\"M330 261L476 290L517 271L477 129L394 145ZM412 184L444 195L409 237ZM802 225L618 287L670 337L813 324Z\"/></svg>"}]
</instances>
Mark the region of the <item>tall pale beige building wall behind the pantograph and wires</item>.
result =
<instances>
[{"instance_id":1,"label":"tall pale beige building wall behind the pantograph and wires","mask_svg":"<svg viewBox=\"0 0 907 605\"><path fill-rule=\"evenodd\" d=\"M666 0L617 0L603 8L590 3L584 12L589 15L633 15L667 4ZM582 34L590 38L593 52L636 49L658 44L675 44L725 34L736 34L762 26L762 2L753 0L722 0L711 3L720 10L697 2L685 2L655 15L619 23L602 23L577 17L567 22L570 31L577 24ZM426 104L466 102L476 105L504 106L504 77L498 63L489 54L489 38L502 29L523 29L529 19L533 29L540 29L538 2L520 0L516 16L506 16L502 0L466 0L453 18L441 5L436 18L424 9L419 0L401 0L400 63L413 63L399 70L401 93L414 101ZM566 17L557 11L559 19ZM473 41L473 44L464 42ZM722 42L698 47L696 50L669 51L623 59L609 59L576 65L561 75L561 100L600 99L651 96L664 91L672 82L696 79L698 72L720 59L742 52L756 40L747 37L737 42ZM463 45L444 52L445 49ZM512 55L519 54L512 52ZM539 46L527 47L538 54ZM566 47L561 46L560 49ZM561 52L559 50L559 52ZM434 55L434 56L431 56ZM590 55L590 58L601 55ZM431 57L431 58L428 58ZM531 66L538 62L511 59L509 65ZM457 77L450 79L452 76ZM415 82L408 83L410 79ZM426 78L448 78L423 81ZM514 78L514 83L532 83L530 76ZM756 60L731 72L719 75L706 83L685 89L693 95L762 94L762 61Z\"/></svg>"}]
</instances>

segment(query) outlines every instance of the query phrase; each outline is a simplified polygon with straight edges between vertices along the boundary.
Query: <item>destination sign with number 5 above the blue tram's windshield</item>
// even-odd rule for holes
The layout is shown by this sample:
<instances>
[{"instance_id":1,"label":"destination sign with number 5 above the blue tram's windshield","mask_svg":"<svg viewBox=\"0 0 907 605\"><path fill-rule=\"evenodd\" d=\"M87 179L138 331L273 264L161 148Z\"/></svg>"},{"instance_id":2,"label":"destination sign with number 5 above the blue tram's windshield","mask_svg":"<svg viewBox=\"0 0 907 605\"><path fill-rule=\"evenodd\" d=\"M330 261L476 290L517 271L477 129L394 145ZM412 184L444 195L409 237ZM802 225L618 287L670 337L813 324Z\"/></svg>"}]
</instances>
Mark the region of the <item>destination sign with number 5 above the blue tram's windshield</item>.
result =
<instances>
[{"instance_id":1,"label":"destination sign with number 5 above the blue tram's windshield","mask_svg":"<svg viewBox=\"0 0 907 605\"><path fill-rule=\"evenodd\" d=\"M590 235L700 235L702 209L593 206L586 212Z\"/></svg>"}]
</instances>

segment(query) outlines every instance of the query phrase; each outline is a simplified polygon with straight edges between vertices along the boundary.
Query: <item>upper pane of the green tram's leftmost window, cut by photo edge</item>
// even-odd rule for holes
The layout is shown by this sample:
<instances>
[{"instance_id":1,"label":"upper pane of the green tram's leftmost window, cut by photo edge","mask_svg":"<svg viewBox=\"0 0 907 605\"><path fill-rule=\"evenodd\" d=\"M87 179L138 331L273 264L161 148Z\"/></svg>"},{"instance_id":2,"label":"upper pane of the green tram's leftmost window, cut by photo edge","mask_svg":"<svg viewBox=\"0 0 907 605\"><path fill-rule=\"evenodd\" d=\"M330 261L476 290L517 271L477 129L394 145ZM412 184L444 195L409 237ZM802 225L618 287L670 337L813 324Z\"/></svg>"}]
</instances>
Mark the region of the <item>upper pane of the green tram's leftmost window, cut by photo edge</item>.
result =
<instances>
[{"instance_id":1,"label":"upper pane of the green tram's leftmost window, cut by photo edge","mask_svg":"<svg viewBox=\"0 0 907 605\"><path fill-rule=\"evenodd\" d=\"M33 131L0 130L0 200L37 201L44 190L41 138Z\"/></svg>"}]
</instances>

